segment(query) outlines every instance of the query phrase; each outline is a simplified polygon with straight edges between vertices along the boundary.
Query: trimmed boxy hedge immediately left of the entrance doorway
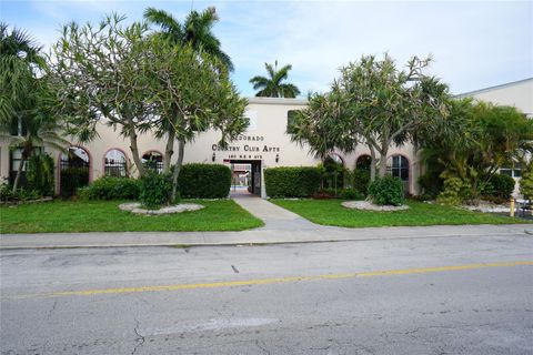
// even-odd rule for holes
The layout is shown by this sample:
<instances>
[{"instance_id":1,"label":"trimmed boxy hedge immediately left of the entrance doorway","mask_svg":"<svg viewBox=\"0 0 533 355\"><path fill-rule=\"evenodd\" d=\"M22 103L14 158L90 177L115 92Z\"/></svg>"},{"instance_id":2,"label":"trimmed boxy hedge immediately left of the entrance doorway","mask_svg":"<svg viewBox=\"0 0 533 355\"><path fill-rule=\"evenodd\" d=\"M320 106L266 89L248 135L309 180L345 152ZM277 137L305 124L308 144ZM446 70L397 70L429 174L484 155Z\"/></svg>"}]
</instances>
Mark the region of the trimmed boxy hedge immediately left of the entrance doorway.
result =
<instances>
[{"instance_id":1,"label":"trimmed boxy hedge immediately left of the entrance doorway","mask_svg":"<svg viewBox=\"0 0 533 355\"><path fill-rule=\"evenodd\" d=\"M231 170L222 164L185 164L181 168L178 186L183 197L228 197Z\"/></svg>"}]
</instances>

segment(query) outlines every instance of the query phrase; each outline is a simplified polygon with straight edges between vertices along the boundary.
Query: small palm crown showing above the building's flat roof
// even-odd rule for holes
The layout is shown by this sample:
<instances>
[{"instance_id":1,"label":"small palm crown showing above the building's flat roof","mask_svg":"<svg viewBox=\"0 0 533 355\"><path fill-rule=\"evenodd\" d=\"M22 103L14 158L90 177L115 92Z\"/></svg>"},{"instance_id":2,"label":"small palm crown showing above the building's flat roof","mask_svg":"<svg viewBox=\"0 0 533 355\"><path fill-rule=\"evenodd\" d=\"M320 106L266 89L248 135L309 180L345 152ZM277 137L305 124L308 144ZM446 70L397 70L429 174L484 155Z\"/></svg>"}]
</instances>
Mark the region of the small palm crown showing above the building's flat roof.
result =
<instances>
[{"instance_id":1,"label":"small palm crown showing above the building's flat roof","mask_svg":"<svg viewBox=\"0 0 533 355\"><path fill-rule=\"evenodd\" d=\"M291 64L284 65L278 70L278 61L274 65L264 63L264 68L270 78L257 75L250 79L254 90L259 90L255 97L266 98L295 98L300 94L300 90L292 83L282 83L289 75Z\"/></svg>"}]
</instances>

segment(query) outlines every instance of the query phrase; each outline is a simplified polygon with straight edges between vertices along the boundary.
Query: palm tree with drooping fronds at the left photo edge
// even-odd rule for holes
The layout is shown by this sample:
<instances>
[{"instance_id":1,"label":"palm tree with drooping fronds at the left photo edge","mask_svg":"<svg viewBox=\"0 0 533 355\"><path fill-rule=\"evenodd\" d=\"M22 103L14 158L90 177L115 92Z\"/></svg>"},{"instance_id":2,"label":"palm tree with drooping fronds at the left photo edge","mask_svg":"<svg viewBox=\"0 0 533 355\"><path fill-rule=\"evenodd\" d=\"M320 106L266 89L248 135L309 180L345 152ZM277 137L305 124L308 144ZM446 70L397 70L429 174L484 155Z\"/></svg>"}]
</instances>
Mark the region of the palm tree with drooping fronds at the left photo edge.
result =
<instances>
[{"instance_id":1,"label":"palm tree with drooping fronds at the left photo edge","mask_svg":"<svg viewBox=\"0 0 533 355\"><path fill-rule=\"evenodd\" d=\"M8 26L0 23L0 138L10 149L21 150L13 192L36 148L62 150L68 144L58 134L60 124L44 103L50 98L47 78L37 78L44 67L40 47L26 32L13 29L8 33Z\"/></svg>"}]
</instances>

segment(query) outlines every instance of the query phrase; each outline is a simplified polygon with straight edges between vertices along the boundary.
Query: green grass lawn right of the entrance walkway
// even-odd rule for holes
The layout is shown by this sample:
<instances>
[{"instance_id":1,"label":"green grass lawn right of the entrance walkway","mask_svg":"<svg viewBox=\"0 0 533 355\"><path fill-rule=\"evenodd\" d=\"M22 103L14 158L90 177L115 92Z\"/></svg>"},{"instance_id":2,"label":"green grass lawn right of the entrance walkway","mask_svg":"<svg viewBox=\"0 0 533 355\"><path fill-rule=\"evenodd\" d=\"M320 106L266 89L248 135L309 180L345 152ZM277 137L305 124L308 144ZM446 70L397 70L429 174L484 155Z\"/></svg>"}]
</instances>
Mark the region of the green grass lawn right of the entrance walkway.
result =
<instances>
[{"instance_id":1,"label":"green grass lawn right of the entrance walkway","mask_svg":"<svg viewBox=\"0 0 533 355\"><path fill-rule=\"evenodd\" d=\"M341 206L341 200L271 200L311 222L346 227L438 225L438 224L511 224L527 223L489 213L408 201L409 210L373 212Z\"/></svg>"}]
</instances>

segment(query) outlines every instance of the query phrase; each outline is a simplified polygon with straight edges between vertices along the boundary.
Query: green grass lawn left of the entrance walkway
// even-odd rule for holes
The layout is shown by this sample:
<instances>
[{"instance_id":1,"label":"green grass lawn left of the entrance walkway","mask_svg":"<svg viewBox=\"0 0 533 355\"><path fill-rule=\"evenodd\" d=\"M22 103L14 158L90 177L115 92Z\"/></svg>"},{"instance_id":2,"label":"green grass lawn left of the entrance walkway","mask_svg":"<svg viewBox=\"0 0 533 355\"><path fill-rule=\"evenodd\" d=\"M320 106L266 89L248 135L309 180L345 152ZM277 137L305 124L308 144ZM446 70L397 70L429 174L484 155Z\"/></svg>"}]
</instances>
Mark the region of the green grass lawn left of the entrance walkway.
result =
<instances>
[{"instance_id":1,"label":"green grass lawn left of the entrance walkway","mask_svg":"<svg viewBox=\"0 0 533 355\"><path fill-rule=\"evenodd\" d=\"M242 231L263 222L232 200L189 201L205 209L169 215L134 215L118 201L54 201L0 207L1 233Z\"/></svg>"}]
</instances>

